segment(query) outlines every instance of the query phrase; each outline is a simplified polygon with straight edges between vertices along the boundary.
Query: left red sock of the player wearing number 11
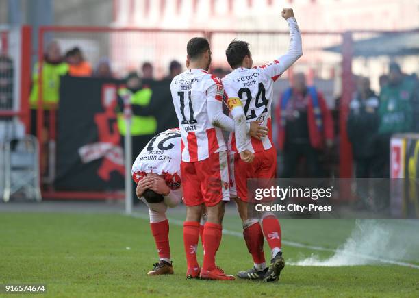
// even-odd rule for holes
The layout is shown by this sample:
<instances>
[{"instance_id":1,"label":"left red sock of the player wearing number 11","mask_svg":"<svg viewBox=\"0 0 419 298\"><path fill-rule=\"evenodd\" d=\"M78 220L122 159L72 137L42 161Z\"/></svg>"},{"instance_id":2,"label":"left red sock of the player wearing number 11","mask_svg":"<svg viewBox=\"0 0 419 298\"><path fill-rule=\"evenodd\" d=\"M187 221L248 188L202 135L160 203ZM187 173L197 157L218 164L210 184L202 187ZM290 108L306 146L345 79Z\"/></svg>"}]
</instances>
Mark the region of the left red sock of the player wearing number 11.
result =
<instances>
[{"instance_id":1,"label":"left red sock of the player wearing number 11","mask_svg":"<svg viewBox=\"0 0 419 298\"><path fill-rule=\"evenodd\" d=\"M185 247L188 269L198 268L196 249L199 241L199 222L185 221L183 223L183 245Z\"/></svg>"}]
</instances>

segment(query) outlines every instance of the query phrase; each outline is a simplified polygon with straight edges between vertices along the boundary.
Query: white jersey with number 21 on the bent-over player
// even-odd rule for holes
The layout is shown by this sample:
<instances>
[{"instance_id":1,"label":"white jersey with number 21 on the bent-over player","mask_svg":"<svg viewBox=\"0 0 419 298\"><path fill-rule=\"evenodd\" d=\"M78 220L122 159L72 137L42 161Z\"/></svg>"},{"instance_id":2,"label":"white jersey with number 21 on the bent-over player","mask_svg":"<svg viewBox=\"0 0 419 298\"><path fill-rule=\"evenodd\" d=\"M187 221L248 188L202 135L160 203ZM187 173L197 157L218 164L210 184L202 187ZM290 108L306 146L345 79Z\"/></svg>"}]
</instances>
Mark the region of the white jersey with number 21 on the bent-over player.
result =
<instances>
[{"instance_id":1,"label":"white jersey with number 21 on the bent-over player","mask_svg":"<svg viewBox=\"0 0 419 298\"><path fill-rule=\"evenodd\" d=\"M163 175L171 189L181 185L181 134L179 129L168 129L155 135L142 149L134 162L131 174L138 183L147 173Z\"/></svg>"}]
</instances>

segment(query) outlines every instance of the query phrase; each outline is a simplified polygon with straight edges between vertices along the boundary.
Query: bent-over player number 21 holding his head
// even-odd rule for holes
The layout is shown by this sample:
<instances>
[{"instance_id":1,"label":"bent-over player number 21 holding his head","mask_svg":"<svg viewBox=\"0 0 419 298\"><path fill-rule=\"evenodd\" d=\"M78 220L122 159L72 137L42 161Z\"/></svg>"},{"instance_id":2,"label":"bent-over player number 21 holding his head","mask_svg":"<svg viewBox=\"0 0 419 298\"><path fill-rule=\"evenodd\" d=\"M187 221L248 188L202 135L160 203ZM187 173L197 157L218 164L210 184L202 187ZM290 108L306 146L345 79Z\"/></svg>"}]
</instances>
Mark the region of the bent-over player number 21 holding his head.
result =
<instances>
[{"instance_id":1,"label":"bent-over player number 21 holding his head","mask_svg":"<svg viewBox=\"0 0 419 298\"><path fill-rule=\"evenodd\" d=\"M136 195L149 207L151 232L160 258L148 275L173 274L166 210L177 206L182 197L180 136L179 129L154 136L131 169Z\"/></svg>"}]
</instances>

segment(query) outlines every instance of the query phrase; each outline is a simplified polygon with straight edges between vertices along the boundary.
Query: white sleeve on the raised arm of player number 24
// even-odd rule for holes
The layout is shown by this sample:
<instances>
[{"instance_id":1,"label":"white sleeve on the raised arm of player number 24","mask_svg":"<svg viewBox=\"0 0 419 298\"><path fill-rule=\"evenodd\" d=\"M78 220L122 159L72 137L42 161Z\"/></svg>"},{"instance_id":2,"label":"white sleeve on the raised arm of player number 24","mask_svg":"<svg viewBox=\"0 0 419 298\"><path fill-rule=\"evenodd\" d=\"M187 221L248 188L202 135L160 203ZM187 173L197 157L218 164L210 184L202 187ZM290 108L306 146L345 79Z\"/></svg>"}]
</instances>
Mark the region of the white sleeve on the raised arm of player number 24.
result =
<instances>
[{"instance_id":1,"label":"white sleeve on the raised arm of player number 24","mask_svg":"<svg viewBox=\"0 0 419 298\"><path fill-rule=\"evenodd\" d=\"M297 25L295 18L288 18L287 22L290 27L290 46L288 47L288 52L281 55L274 62L260 66L262 73L274 81L303 55L299 25Z\"/></svg>"}]
</instances>

